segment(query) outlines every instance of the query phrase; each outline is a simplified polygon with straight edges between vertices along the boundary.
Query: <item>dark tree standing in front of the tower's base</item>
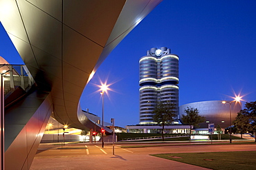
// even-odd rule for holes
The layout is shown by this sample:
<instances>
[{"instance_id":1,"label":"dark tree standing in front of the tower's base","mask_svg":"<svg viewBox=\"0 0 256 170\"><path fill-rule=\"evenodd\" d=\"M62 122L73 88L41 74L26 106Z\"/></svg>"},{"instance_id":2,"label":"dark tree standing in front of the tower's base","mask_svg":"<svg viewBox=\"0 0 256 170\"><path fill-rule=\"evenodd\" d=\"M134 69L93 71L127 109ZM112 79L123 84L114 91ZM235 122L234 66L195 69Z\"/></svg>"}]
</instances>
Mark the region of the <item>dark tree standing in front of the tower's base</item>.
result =
<instances>
[{"instance_id":1,"label":"dark tree standing in front of the tower's base","mask_svg":"<svg viewBox=\"0 0 256 170\"><path fill-rule=\"evenodd\" d=\"M154 114L153 120L163 127L162 129L162 138L165 125L170 124L174 121L174 116L176 116L176 107L173 103L170 102L158 102L156 107L152 112ZM165 139L163 138L163 141Z\"/></svg>"}]
</instances>

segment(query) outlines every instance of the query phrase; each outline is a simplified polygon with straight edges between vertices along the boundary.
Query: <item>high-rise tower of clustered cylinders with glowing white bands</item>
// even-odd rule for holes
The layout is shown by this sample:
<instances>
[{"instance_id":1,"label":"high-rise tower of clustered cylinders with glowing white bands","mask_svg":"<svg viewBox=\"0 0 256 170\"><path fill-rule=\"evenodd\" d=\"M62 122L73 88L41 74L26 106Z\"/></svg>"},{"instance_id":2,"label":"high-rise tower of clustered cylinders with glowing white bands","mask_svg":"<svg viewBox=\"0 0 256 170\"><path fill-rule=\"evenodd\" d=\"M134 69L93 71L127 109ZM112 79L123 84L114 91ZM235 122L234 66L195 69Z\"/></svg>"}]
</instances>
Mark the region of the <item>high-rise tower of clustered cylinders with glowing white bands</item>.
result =
<instances>
[{"instance_id":1,"label":"high-rise tower of clustered cylinders with glowing white bands","mask_svg":"<svg viewBox=\"0 0 256 170\"><path fill-rule=\"evenodd\" d=\"M140 125L156 124L152 111L158 101L176 106L179 115L179 56L167 47L153 47L140 61Z\"/></svg>"}]
</instances>

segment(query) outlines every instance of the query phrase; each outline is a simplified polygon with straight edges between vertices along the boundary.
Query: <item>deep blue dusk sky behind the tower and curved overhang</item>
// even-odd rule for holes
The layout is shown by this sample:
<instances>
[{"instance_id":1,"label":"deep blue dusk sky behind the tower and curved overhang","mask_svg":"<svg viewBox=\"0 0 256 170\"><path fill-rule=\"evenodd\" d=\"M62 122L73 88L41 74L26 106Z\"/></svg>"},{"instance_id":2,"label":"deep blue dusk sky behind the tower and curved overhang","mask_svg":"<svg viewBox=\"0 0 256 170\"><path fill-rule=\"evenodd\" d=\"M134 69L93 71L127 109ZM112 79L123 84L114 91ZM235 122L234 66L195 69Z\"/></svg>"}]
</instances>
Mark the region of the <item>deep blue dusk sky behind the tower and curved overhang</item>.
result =
<instances>
[{"instance_id":1,"label":"deep blue dusk sky behind the tower and curved overhang","mask_svg":"<svg viewBox=\"0 0 256 170\"><path fill-rule=\"evenodd\" d=\"M82 109L101 117L102 82L113 83L104 96L104 121L139 123L138 61L152 47L168 47L179 56L179 105L232 100L241 94L256 100L256 1L164 0L132 30L100 65L84 89ZM22 63L3 28L0 56ZM200 110L199 110L200 112Z\"/></svg>"}]
</instances>

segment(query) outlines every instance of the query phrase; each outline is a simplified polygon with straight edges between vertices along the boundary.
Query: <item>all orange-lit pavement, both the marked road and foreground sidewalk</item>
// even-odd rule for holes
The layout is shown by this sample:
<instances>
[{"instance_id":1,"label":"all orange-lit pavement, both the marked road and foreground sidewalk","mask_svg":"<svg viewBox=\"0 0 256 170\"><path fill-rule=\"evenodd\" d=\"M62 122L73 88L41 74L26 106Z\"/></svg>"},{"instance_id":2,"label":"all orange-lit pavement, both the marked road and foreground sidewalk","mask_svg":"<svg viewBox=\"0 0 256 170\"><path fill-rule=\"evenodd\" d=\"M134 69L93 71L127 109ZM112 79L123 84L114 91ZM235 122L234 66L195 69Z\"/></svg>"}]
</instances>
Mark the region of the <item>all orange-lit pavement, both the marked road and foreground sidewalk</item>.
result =
<instances>
[{"instance_id":1,"label":"all orange-lit pavement, both the marked road and foreground sidewalk","mask_svg":"<svg viewBox=\"0 0 256 170\"><path fill-rule=\"evenodd\" d=\"M192 145L193 143L40 144L30 169L206 169L149 154L205 151L256 151L256 145ZM163 145L158 147L121 148L120 145ZM169 146L165 146L169 145ZM73 147L73 149L72 149ZM82 149L82 148L87 149Z\"/></svg>"}]
</instances>

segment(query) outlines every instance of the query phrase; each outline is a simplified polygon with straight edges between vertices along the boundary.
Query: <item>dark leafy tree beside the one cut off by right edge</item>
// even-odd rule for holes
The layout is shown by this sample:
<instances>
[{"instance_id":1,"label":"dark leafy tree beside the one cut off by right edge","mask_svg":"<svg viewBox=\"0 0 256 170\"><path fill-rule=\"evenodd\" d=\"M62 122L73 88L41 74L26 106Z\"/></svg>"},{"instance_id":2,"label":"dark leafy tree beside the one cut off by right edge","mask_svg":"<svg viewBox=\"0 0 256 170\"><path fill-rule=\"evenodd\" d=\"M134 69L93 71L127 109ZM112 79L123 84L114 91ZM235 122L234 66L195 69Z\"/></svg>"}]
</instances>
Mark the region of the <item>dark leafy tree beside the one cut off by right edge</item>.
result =
<instances>
[{"instance_id":1,"label":"dark leafy tree beside the one cut off by right edge","mask_svg":"<svg viewBox=\"0 0 256 170\"><path fill-rule=\"evenodd\" d=\"M237 113L237 117L233 121L234 126L241 134L241 139L243 138L243 134L246 133L246 131L249 130L249 117L247 116L247 113L244 110L240 110Z\"/></svg>"}]
</instances>

